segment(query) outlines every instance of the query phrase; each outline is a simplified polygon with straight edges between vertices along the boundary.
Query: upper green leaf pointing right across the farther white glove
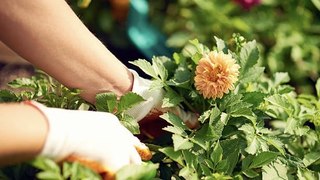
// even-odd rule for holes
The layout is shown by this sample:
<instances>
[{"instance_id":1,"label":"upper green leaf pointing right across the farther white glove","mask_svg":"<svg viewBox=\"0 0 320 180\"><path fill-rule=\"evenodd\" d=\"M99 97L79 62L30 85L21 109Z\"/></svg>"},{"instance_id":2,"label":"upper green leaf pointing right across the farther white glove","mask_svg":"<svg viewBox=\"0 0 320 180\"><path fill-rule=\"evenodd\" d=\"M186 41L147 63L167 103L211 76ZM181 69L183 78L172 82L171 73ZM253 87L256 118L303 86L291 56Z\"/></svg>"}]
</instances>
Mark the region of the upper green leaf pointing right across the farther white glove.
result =
<instances>
[{"instance_id":1,"label":"upper green leaf pointing right across the farther white glove","mask_svg":"<svg viewBox=\"0 0 320 180\"><path fill-rule=\"evenodd\" d=\"M129 92L120 97L117 113L121 113L142 101L144 99L140 95Z\"/></svg>"}]
</instances>

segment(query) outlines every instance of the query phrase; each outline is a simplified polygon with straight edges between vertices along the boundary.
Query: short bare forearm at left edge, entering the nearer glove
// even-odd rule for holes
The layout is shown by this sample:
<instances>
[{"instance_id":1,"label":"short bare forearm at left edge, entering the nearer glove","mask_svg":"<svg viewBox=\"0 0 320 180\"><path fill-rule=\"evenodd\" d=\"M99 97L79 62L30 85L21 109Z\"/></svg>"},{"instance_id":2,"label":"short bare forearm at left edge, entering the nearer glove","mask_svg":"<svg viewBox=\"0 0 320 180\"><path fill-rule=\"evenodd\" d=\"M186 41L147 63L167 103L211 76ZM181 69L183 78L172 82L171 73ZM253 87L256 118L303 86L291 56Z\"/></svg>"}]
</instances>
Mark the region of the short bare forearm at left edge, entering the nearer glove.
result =
<instances>
[{"instance_id":1,"label":"short bare forearm at left edge, entering the nearer glove","mask_svg":"<svg viewBox=\"0 0 320 180\"><path fill-rule=\"evenodd\" d=\"M36 108L18 103L0 104L0 165L29 160L38 155L48 125Z\"/></svg>"}]
</instances>

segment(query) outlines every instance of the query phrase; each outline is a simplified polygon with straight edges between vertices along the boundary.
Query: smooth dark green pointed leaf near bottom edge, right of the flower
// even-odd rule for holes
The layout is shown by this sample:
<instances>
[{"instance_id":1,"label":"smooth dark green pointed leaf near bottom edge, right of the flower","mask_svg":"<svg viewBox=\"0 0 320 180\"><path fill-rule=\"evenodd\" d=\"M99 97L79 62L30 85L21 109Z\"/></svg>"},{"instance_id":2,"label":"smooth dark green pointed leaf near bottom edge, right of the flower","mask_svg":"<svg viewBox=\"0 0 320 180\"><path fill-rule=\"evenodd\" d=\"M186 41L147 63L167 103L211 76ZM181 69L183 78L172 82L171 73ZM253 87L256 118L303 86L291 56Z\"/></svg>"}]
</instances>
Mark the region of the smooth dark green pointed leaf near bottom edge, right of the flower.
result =
<instances>
[{"instance_id":1,"label":"smooth dark green pointed leaf near bottom edge, right of the flower","mask_svg":"<svg viewBox=\"0 0 320 180\"><path fill-rule=\"evenodd\" d=\"M278 153L271 151L264 151L255 156L250 164L249 168L258 168L268 165L274 161L278 156Z\"/></svg>"}]
</instances>

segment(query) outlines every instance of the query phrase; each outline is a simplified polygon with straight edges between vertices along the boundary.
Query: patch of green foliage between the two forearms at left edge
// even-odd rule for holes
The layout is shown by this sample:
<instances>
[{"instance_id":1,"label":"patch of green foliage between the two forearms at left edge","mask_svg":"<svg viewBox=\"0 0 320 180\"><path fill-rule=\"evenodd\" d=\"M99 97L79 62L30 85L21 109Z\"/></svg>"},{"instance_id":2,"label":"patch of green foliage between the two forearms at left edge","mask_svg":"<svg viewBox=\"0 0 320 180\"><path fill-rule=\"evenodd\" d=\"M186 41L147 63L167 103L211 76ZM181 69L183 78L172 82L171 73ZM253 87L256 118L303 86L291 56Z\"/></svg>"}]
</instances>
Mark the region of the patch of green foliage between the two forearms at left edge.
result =
<instances>
[{"instance_id":1,"label":"patch of green foliage between the two forearms at left edge","mask_svg":"<svg viewBox=\"0 0 320 180\"><path fill-rule=\"evenodd\" d=\"M18 78L8 85L16 91L0 90L0 102L35 100L48 107L64 109L88 106L79 96L79 90L67 88L41 72L31 78Z\"/></svg>"}]
</instances>

